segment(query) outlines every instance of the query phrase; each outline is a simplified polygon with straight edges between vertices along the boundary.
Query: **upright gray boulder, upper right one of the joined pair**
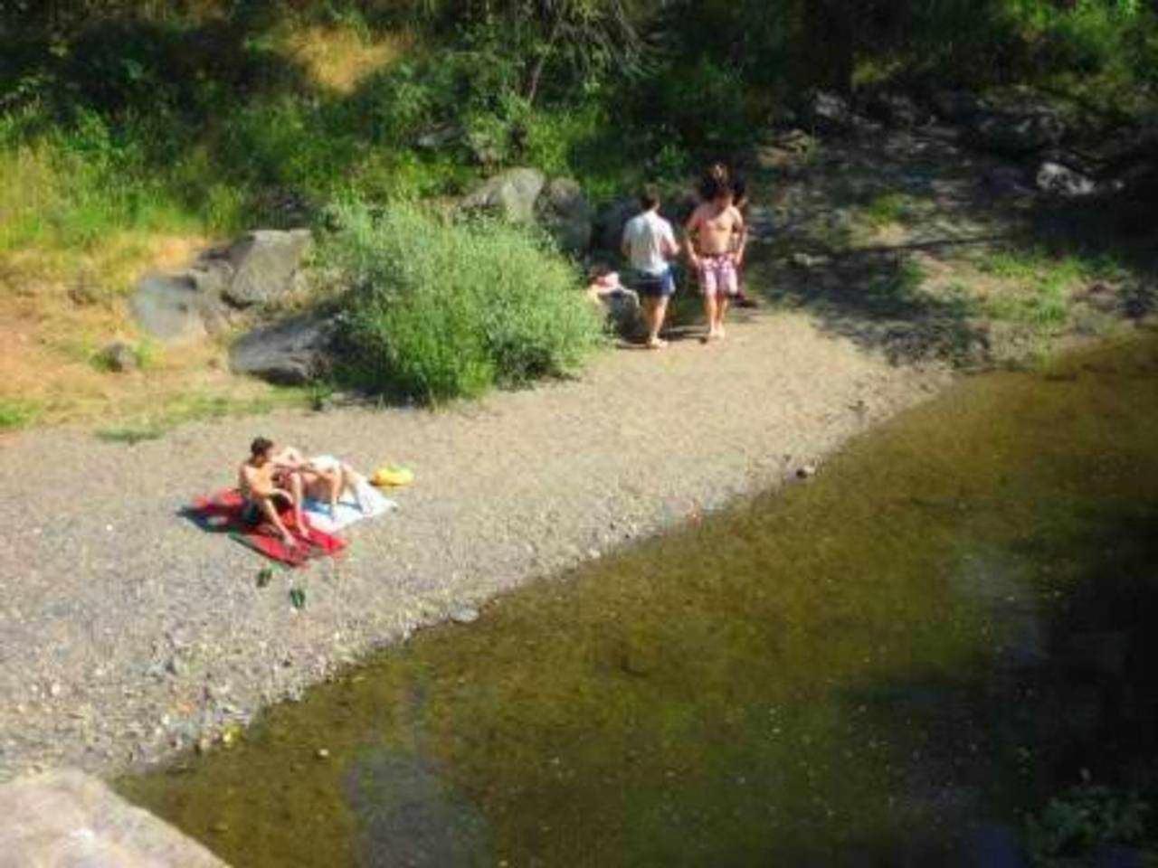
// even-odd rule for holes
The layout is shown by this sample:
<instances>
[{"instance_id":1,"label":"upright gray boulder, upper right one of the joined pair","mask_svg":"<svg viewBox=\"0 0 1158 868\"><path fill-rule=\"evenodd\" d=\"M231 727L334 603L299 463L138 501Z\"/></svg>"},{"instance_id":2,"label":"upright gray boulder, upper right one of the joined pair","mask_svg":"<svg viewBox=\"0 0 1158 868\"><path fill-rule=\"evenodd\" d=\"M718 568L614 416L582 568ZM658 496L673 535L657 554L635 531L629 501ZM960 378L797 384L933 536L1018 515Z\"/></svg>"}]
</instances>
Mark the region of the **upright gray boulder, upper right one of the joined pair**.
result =
<instances>
[{"instance_id":1,"label":"upright gray boulder, upper right one of the joined pair","mask_svg":"<svg viewBox=\"0 0 1158 868\"><path fill-rule=\"evenodd\" d=\"M300 269L312 240L308 229L258 229L247 234L225 256L233 278L222 296L240 308L277 306L300 288Z\"/></svg>"}]
</instances>

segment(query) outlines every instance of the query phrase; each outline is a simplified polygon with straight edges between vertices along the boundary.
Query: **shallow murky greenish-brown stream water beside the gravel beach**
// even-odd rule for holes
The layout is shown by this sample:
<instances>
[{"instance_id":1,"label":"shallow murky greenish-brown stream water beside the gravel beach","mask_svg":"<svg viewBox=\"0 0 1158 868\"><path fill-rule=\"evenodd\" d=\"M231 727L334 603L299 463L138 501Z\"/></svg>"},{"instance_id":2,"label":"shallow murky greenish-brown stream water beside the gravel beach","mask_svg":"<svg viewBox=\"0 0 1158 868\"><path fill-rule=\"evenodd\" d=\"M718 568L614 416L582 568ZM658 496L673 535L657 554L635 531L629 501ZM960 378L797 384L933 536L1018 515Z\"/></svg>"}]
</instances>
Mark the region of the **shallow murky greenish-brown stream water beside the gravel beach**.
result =
<instances>
[{"instance_id":1,"label":"shallow murky greenish-brown stream water beside the gravel beach","mask_svg":"<svg viewBox=\"0 0 1158 868\"><path fill-rule=\"evenodd\" d=\"M1152 334L966 380L118 788L236 868L995 863L1158 781L1156 432Z\"/></svg>"}]
</instances>

